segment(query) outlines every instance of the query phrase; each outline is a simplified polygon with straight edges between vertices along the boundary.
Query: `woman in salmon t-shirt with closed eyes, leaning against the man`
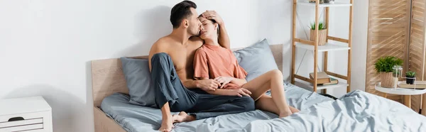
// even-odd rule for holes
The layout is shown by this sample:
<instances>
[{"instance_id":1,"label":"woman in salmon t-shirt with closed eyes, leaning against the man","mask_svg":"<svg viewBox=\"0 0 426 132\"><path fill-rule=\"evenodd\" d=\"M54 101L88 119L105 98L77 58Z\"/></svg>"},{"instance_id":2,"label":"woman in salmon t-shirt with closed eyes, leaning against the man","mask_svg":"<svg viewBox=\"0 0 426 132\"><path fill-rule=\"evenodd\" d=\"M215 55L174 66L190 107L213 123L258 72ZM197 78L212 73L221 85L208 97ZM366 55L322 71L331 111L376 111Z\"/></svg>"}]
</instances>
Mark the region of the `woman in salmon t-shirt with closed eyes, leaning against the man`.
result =
<instances>
[{"instance_id":1,"label":"woman in salmon t-shirt with closed eyes, leaning against the man","mask_svg":"<svg viewBox=\"0 0 426 132\"><path fill-rule=\"evenodd\" d=\"M232 51L218 43L219 25L202 16L199 20L202 22L200 38L204 45L195 53L194 77L215 79L222 84L220 89L208 91L209 94L250 96L256 101L256 109L273 112L280 118L299 111L289 106L285 99L283 75L279 70L271 70L246 82L247 72L238 65ZM272 97L265 94L269 89Z\"/></svg>"}]
</instances>

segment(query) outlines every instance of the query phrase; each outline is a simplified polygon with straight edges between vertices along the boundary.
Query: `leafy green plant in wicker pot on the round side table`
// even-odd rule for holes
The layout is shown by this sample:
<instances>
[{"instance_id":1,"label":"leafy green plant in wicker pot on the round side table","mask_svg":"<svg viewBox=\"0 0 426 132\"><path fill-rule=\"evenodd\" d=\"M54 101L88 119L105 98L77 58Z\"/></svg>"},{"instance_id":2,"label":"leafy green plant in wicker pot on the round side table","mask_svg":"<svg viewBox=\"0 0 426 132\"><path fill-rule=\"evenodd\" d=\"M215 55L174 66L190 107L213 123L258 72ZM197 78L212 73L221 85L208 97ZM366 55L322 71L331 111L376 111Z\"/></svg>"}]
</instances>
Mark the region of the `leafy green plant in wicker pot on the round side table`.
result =
<instances>
[{"instance_id":1,"label":"leafy green plant in wicker pot on the round side table","mask_svg":"<svg viewBox=\"0 0 426 132\"><path fill-rule=\"evenodd\" d=\"M380 73L381 87L393 87L395 80L393 79L393 66L403 65L403 60L398 57L386 56L379 58L374 64L376 72Z\"/></svg>"}]
</instances>

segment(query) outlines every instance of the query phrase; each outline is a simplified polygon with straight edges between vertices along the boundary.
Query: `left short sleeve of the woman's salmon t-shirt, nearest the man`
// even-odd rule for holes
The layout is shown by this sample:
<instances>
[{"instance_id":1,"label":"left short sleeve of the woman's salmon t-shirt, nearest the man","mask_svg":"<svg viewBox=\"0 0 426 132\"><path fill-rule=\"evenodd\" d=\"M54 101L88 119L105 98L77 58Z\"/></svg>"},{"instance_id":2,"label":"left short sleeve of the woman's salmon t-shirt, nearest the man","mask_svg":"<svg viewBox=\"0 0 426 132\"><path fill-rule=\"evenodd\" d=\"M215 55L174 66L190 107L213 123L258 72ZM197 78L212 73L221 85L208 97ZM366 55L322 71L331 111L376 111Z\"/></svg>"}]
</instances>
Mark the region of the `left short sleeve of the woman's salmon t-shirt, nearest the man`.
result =
<instances>
[{"instance_id":1,"label":"left short sleeve of the woman's salmon t-shirt, nearest the man","mask_svg":"<svg viewBox=\"0 0 426 132\"><path fill-rule=\"evenodd\" d=\"M209 66L204 50L198 49L194 55L194 77L209 78Z\"/></svg>"}]
</instances>

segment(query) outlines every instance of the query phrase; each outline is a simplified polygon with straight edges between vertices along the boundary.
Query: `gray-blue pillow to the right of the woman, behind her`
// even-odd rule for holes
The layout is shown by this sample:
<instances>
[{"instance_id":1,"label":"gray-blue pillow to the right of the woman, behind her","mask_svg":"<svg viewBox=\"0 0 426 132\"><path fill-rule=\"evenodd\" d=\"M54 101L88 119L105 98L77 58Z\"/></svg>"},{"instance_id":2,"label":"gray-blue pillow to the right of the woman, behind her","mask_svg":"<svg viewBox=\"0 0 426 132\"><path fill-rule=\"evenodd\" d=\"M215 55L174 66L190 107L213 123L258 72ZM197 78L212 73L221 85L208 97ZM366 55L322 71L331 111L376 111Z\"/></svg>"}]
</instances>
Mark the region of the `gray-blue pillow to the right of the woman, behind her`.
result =
<instances>
[{"instance_id":1,"label":"gray-blue pillow to the right of the woman, behind her","mask_svg":"<svg viewBox=\"0 0 426 132\"><path fill-rule=\"evenodd\" d=\"M247 72L247 82L270 70L278 69L266 39L247 48L236 50L234 55L239 65Z\"/></svg>"}]
</instances>

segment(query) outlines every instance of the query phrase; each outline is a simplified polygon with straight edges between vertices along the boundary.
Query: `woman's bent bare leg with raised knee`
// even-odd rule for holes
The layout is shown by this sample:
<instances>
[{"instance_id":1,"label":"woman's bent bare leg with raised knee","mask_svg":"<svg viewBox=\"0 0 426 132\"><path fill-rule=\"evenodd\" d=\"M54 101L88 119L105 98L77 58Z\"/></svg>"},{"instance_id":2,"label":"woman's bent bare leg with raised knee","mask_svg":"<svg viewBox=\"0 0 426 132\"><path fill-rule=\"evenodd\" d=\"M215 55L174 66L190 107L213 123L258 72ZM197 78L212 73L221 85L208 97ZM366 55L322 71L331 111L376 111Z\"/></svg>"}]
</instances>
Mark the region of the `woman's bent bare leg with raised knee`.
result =
<instances>
[{"instance_id":1,"label":"woman's bent bare leg with raised knee","mask_svg":"<svg viewBox=\"0 0 426 132\"><path fill-rule=\"evenodd\" d=\"M268 91L268 89L271 89L272 100L275 103L275 106L278 107L278 115L280 117L285 117L290 116L290 114L293 114L288 106L287 101L285 100L283 75L280 70L271 70L269 72L266 72L265 74L256 77L250 82L247 82L243 85L243 87L245 89L248 89L252 93L251 97L255 101L260 99L263 94ZM264 99L262 99L262 102L265 102L266 98L263 98ZM273 111L273 108L263 107L263 109L269 109Z\"/></svg>"}]
</instances>

